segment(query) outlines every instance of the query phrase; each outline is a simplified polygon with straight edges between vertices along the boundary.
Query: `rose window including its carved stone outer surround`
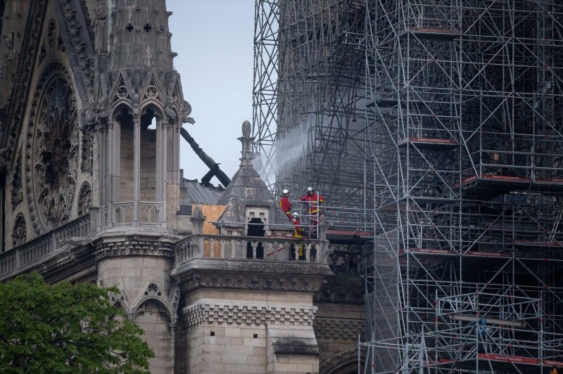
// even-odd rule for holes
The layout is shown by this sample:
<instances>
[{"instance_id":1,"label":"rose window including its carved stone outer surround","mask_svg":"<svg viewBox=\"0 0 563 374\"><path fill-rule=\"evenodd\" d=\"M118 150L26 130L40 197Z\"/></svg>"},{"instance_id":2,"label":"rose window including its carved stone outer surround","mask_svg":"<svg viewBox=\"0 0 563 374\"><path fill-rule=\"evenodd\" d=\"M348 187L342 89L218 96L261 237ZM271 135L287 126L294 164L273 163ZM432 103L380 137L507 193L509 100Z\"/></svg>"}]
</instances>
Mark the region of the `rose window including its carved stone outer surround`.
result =
<instances>
[{"instance_id":1,"label":"rose window including its carved stone outer surround","mask_svg":"<svg viewBox=\"0 0 563 374\"><path fill-rule=\"evenodd\" d=\"M51 63L39 78L26 143L26 191L36 234L70 219L80 171L78 110L70 77Z\"/></svg>"}]
</instances>

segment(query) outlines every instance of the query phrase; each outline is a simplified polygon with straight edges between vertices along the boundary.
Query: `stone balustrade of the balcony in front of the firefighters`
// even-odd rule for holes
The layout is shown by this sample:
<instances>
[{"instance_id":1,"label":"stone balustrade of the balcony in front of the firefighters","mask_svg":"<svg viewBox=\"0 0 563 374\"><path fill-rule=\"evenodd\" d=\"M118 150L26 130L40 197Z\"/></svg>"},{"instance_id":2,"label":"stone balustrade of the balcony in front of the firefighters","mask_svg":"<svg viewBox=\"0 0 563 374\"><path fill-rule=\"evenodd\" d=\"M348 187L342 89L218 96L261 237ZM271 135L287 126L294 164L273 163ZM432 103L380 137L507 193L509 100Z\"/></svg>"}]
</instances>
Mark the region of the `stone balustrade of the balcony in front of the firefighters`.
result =
<instances>
[{"instance_id":1,"label":"stone balustrade of the balcony in front of the firefighters","mask_svg":"<svg viewBox=\"0 0 563 374\"><path fill-rule=\"evenodd\" d=\"M313 239L196 235L176 245L175 264L201 258L326 263L327 244L327 241Z\"/></svg>"}]
</instances>

